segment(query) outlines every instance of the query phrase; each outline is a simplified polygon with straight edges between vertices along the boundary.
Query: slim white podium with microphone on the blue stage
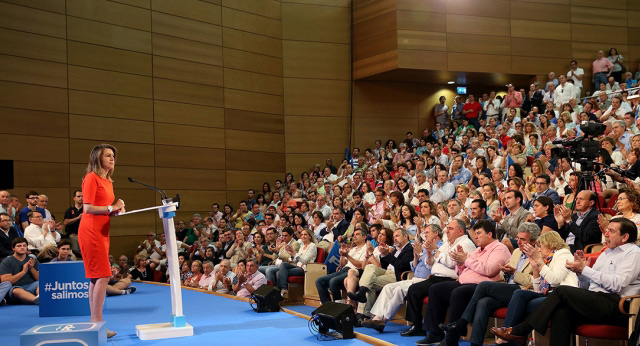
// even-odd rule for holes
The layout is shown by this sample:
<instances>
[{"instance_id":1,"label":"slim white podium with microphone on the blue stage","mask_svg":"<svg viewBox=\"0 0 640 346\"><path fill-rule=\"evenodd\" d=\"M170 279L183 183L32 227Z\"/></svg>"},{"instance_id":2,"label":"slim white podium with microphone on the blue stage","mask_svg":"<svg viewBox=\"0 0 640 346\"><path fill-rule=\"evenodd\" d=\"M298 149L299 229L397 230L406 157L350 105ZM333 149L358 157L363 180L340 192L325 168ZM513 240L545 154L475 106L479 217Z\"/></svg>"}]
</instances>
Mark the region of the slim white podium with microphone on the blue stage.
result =
<instances>
[{"instance_id":1,"label":"slim white podium with microphone on the blue stage","mask_svg":"<svg viewBox=\"0 0 640 346\"><path fill-rule=\"evenodd\" d=\"M178 338L193 335L193 326L187 323L182 313L182 288L180 287L180 268L178 268L178 248L173 218L176 215L178 202L170 198L163 199L161 206L128 211L120 215L128 215L148 210L158 210L164 226L164 236L167 243L167 265L171 279L171 316L169 322L156 324L140 324L136 326L136 335L141 340L157 340Z\"/></svg>"}]
</instances>

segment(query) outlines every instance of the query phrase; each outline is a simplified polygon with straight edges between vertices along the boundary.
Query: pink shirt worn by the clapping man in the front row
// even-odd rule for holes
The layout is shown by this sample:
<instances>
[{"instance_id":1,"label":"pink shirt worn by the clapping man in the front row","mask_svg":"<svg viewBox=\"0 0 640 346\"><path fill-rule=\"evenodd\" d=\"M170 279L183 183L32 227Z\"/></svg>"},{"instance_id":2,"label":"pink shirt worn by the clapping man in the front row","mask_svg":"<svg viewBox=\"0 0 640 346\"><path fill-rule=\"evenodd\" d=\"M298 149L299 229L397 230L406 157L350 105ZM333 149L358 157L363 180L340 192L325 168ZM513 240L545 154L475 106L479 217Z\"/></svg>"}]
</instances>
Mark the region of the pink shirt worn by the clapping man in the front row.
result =
<instances>
[{"instance_id":1,"label":"pink shirt worn by the clapping man in the front row","mask_svg":"<svg viewBox=\"0 0 640 346\"><path fill-rule=\"evenodd\" d=\"M457 265L461 284L477 284L482 281L501 281L500 266L509 263L511 253L501 242L494 240L484 248L471 252L463 265Z\"/></svg>"}]
</instances>

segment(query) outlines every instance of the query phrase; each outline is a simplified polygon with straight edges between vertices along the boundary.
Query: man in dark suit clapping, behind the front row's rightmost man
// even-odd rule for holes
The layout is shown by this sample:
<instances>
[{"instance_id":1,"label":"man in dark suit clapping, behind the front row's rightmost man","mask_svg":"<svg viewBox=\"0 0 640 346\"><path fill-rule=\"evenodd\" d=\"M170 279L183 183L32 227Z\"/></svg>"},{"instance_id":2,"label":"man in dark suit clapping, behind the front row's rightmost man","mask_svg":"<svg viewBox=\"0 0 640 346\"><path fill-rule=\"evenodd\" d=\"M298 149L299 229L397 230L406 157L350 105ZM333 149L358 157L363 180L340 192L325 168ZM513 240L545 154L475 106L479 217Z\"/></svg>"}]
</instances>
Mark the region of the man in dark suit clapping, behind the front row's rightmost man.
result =
<instances>
[{"instance_id":1,"label":"man in dark suit clapping, behind the front row's rightmost man","mask_svg":"<svg viewBox=\"0 0 640 346\"><path fill-rule=\"evenodd\" d=\"M593 191L583 190L576 196L576 212L571 214L571 209L557 205L554 215L558 221L558 233L571 248L571 252L582 250L589 244L599 244L602 240L602 232L598 225L600 212L595 204L598 196ZM567 220L570 220L567 222ZM571 241L571 234L575 237Z\"/></svg>"}]
</instances>

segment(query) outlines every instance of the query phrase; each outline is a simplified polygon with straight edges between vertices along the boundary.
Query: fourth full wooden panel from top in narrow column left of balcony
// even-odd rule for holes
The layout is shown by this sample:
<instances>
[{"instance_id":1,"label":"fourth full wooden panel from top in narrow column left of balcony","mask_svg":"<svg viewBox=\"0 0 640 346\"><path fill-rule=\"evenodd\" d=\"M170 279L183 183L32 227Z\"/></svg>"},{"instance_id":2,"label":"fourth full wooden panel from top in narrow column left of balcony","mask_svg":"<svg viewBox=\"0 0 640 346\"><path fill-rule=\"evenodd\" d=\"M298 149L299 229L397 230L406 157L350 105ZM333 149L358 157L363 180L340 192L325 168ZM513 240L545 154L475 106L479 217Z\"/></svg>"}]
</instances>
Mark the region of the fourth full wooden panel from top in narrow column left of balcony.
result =
<instances>
[{"instance_id":1,"label":"fourth full wooden panel from top in narrow column left of balcony","mask_svg":"<svg viewBox=\"0 0 640 346\"><path fill-rule=\"evenodd\" d=\"M349 141L349 120L344 117L286 116L287 153L344 152Z\"/></svg>"}]
</instances>

